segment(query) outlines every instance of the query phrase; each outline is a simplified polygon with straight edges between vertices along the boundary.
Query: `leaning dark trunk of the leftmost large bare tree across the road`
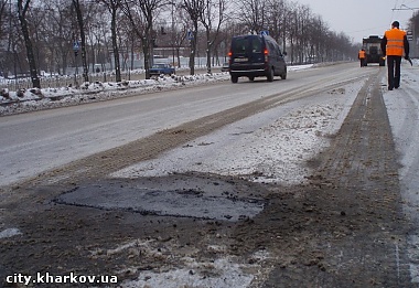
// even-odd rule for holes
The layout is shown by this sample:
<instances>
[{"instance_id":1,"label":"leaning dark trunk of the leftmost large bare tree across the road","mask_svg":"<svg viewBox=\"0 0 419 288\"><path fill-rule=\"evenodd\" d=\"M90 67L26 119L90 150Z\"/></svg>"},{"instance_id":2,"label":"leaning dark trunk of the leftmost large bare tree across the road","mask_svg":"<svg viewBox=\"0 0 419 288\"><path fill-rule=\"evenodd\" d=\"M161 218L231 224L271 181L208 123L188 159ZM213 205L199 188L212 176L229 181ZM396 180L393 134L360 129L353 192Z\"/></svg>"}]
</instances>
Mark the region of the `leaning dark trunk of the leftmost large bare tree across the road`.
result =
<instances>
[{"instance_id":1,"label":"leaning dark trunk of the leftmost large bare tree across the road","mask_svg":"<svg viewBox=\"0 0 419 288\"><path fill-rule=\"evenodd\" d=\"M26 21L30 2L31 0L25 0L24 2L23 0L18 0L18 18L21 24L24 44L26 47L26 56L28 56L28 62L29 62L29 67L30 67L30 73L31 73L32 86L34 88L41 88L41 81L40 81L40 77L37 76L36 62L35 62L35 56L33 53L31 38L29 34L29 24Z\"/></svg>"}]
</instances>

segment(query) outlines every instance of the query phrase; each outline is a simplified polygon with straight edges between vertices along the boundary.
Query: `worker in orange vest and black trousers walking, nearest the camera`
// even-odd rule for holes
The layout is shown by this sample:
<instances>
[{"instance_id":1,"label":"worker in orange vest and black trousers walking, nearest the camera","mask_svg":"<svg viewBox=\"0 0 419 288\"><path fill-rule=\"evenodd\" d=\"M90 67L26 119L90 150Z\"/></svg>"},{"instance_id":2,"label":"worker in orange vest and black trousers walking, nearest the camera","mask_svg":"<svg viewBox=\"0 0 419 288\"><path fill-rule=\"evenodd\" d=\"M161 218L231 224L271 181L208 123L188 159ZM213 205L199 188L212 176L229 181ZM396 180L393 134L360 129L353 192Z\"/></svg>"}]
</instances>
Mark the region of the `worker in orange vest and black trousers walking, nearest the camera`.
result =
<instances>
[{"instance_id":1,"label":"worker in orange vest and black trousers walking, nearest the camera","mask_svg":"<svg viewBox=\"0 0 419 288\"><path fill-rule=\"evenodd\" d=\"M399 29L398 21L391 23L391 29L384 33L382 40L382 51L387 55L388 68L388 89L400 87L400 63L405 54L405 58L409 60L409 42L406 32Z\"/></svg>"}]
</instances>

